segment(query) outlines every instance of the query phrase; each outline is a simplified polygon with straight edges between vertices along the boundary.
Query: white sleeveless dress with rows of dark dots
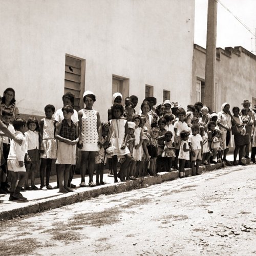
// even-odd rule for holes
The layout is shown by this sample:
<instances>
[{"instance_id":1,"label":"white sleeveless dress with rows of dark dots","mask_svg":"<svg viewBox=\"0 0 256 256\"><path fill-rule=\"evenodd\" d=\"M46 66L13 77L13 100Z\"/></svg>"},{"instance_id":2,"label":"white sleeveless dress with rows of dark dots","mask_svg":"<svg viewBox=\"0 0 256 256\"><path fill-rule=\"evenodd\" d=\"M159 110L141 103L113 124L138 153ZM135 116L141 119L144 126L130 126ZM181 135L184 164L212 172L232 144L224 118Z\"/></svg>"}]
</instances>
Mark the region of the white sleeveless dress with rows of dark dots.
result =
<instances>
[{"instance_id":1,"label":"white sleeveless dress with rows of dark dots","mask_svg":"<svg viewBox=\"0 0 256 256\"><path fill-rule=\"evenodd\" d=\"M80 151L99 151L98 131L97 131L97 112L95 110L83 109L81 120L81 140L82 148Z\"/></svg>"}]
</instances>

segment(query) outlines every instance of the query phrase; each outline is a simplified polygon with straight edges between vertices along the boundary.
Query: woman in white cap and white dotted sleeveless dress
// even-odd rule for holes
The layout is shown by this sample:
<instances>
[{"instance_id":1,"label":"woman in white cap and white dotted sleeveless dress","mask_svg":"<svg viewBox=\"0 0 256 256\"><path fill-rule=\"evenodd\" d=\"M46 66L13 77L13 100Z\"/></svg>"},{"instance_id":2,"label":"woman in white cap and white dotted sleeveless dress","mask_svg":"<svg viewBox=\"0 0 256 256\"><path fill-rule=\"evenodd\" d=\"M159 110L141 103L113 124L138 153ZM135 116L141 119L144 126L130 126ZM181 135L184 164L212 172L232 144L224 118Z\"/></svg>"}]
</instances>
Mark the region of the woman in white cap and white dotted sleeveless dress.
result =
<instances>
[{"instance_id":1,"label":"woman in white cap and white dotted sleeveless dress","mask_svg":"<svg viewBox=\"0 0 256 256\"><path fill-rule=\"evenodd\" d=\"M86 108L78 111L80 139L79 148L81 151L81 183L80 187L86 186L84 177L88 163L89 169L89 186L95 186L93 182L93 173L95 166L95 156L99 151L101 139L101 122L99 112L93 109L93 104L96 101L95 94L91 91L86 91L83 94L83 102Z\"/></svg>"}]
</instances>

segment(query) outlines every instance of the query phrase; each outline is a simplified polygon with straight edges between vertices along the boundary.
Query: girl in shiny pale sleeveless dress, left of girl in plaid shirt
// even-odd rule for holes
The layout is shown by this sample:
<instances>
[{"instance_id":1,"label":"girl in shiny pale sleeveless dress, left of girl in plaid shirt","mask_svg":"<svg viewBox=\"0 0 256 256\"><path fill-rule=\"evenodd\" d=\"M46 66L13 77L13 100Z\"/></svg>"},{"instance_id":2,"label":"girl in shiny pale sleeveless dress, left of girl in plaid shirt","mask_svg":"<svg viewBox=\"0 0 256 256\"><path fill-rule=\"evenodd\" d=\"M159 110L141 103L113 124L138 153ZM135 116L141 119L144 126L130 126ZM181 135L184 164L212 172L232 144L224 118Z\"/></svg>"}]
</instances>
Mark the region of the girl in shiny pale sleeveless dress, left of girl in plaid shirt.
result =
<instances>
[{"instance_id":1,"label":"girl in shiny pale sleeveless dress, left of girl in plaid shirt","mask_svg":"<svg viewBox=\"0 0 256 256\"><path fill-rule=\"evenodd\" d=\"M52 120L52 116L55 112L54 105L48 104L45 106L46 117L39 122L39 142L41 153L40 164L40 189L47 190L52 189L49 184L52 160L57 157L57 142L54 137L55 134L55 122ZM45 170L46 170L46 183L45 183Z\"/></svg>"}]
</instances>

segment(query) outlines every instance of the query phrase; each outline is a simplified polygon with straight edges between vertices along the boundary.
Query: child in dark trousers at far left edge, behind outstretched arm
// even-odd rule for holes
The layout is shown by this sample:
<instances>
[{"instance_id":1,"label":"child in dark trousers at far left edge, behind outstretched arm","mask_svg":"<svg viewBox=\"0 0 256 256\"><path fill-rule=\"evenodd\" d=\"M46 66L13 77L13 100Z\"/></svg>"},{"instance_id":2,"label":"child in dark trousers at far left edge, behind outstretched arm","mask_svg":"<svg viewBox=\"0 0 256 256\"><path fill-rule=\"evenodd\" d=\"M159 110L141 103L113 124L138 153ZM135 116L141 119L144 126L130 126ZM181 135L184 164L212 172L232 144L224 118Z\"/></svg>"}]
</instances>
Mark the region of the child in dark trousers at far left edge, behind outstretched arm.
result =
<instances>
[{"instance_id":1,"label":"child in dark trousers at far left edge, behind outstretched arm","mask_svg":"<svg viewBox=\"0 0 256 256\"><path fill-rule=\"evenodd\" d=\"M15 129L14 129L13 125L10 123L12 118L13 118L13 111L11 109L7 108L7 109L2 110L3 123L8 127L8 130L12 134L15 134ZM9 186L8 180L7 180L7 175L8 175L7 158L8 158L9 151L10 151L11 139L7 136L4 136L4 134L1 134L1 136L3 136L2 157L4 158L5 163L3 163L3 164L1 163L1 168L0 168L0 180L1 180L0 191L2 193L10 193L10 191L8 189L10 186Z\"/></svg>"}]
</instances>

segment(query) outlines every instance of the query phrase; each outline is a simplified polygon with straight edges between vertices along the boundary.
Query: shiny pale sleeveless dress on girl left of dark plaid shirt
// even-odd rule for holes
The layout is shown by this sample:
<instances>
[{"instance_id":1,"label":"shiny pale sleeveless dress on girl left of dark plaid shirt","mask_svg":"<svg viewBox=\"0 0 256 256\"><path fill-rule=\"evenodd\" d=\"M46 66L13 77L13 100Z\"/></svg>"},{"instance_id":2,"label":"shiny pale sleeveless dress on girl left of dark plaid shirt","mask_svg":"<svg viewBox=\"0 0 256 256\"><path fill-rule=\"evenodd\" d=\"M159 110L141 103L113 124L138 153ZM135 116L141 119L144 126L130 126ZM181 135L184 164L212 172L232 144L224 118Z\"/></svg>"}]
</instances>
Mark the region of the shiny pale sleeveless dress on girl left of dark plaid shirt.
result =
<instances>
[{"instance_id":1,"label":"shiny pale sleeveless dress on girl left of dark plaid shirt","mask_svg":"<svg viewBox=\"0 0 256 256\"><path fill-rule=\"evenodd\" d=\"M44 118L42 127L42 149L44 153L41 158L55 159L57 157L57 141L54 138L54 121Z\"/></svg>"}]
</instances>

